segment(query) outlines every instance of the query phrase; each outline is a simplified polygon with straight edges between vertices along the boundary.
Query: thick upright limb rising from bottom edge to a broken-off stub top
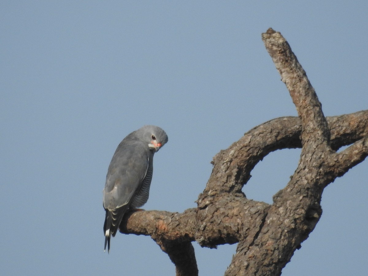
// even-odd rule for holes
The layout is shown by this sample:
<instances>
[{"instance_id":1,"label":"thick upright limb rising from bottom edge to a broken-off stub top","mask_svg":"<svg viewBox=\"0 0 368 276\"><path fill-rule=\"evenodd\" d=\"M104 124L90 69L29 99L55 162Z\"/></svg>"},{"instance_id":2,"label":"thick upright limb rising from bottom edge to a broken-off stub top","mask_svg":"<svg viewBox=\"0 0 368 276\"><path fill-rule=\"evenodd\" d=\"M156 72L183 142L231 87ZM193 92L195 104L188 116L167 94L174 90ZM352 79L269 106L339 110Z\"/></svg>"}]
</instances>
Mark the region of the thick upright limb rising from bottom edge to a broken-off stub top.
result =
<instances>
[{"instance_id":1,"label":"thick upright limb rising from bottom edge to a broken-off stub top","mask_svg":"<svg viewBox=\"0 0 368 276\"><path fill-rule=\"evenodd\" d=\"M302 153L293 177L274 195L257 239L245 251L244 244L238 244L226 275L280 275L314 229L322 214L323 188L336 178L328 166L336 156L330 148L328 124L305 71L280 33L268 29L262 39L301 117Z\"/></svg>"}]
</instances>

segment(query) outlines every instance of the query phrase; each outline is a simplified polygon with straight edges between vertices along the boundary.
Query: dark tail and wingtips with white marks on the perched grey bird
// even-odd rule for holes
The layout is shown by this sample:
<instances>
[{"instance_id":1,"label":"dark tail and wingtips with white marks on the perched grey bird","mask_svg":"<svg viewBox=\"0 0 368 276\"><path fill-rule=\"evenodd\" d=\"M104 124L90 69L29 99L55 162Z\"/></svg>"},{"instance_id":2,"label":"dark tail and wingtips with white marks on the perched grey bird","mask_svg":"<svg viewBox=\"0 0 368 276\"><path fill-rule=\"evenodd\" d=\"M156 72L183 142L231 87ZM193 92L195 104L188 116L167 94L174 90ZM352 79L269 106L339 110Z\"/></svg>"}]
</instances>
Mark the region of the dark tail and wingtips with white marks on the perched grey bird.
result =
<instances>
[{"instance_id":1,"label":"dark tail and wingtips with white marks on the perched grey bird","mask_svg":"<svg viewBox=\"0 0 368 276\"><path fill-rule=\"evenodd\" d=\"M127 209L128 207L126 205L111 211L106 209L105 223L103 224L103 233L105 234L104 252L106 251L107 245L107 252L110 253L111 236L115 237Z\"/></svg>"}]
</instances>

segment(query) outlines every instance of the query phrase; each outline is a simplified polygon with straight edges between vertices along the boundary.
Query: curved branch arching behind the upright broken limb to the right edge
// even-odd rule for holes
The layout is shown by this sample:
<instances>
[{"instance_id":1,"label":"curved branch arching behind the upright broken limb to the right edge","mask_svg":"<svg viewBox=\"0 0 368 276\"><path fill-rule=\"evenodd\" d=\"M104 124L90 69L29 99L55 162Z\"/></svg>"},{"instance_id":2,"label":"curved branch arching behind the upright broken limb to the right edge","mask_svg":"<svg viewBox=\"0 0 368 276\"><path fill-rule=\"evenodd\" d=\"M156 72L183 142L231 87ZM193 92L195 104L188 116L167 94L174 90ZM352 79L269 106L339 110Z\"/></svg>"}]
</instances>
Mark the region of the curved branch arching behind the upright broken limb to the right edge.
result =
<instances>
[{"instance_id":1,"label":"curved branch arching behind the upright broken limb to the right edge","mask_svg":"<svg viewBox=\"0 0 368 276\"><path fill-rule=\"evenodd\" d=\"M368 110L327 117L327 121L335 150L368 136ZM301 129L298 117L276 118L252 128L213 158L212 174L202 196L209 191L211 194L240 192L250 179L251 170L270 152L301 148Z\"/></svg>"}]
</instances>

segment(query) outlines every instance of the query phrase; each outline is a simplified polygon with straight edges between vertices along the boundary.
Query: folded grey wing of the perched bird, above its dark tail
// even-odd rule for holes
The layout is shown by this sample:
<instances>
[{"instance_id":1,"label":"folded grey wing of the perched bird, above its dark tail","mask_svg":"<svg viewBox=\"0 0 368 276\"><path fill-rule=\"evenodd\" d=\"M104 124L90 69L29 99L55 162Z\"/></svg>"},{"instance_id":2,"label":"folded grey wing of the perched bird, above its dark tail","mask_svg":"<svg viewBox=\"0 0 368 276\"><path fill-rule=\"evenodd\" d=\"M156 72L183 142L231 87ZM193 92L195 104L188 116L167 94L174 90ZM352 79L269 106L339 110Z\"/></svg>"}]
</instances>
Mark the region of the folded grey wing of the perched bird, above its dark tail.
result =
<instances>
[{"instance_id":1,"label":"folded grey wing of the perched bird, above its dark tail","mask_svg":"<svg viewBox=\"0 0 368 276\"><path fill-rule=\"evenodd\" d=\"M142 185L148 169L148 154L135 141L122 141L111 160L103 190L103 206L115 210L128 204Z\"/></svg>"}]
</instances>

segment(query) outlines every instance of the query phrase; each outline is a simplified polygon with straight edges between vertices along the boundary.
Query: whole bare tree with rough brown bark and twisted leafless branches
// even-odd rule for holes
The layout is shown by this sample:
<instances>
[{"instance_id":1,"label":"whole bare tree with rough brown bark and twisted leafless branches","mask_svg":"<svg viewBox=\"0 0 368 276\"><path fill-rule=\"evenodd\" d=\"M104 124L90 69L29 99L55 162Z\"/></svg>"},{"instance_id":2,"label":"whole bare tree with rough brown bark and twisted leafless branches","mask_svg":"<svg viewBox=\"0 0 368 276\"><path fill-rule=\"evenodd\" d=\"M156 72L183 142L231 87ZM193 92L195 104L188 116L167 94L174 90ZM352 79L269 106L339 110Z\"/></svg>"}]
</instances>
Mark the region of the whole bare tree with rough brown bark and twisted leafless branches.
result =
<instances>
[{"instance_id":1,"label":"whole bare tree with rough brown bark and twisted leafless branches","mask_svg":"<svg viewBox=\"0 0 368 276\"><path fill-rule=\"evenodd\" d=\"M263 123L217 153L197 208L134 212L120 224L122 233L151 236L175 264L176 275L198 275L192 241L210 248L238 243L225 275L280 275L321 217L323 189L368 155L368 110L325 117L283 36L268 29L262 40L299 117ZM289 183L271 205L247 199L241 189L251 170L270 152L285 148L302 148Z\"/></svg>"}]
</instances>

